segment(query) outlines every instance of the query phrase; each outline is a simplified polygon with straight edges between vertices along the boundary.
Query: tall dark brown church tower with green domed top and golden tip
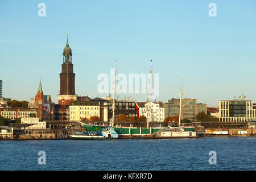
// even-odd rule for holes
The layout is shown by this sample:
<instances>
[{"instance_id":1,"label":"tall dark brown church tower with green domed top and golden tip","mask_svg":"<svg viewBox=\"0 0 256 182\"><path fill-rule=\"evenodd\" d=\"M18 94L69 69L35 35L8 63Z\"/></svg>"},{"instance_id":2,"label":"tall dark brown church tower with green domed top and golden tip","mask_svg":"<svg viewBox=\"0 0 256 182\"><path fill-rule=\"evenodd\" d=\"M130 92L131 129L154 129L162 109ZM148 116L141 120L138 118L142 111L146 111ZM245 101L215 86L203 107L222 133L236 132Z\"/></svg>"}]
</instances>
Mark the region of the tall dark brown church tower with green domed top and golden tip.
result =
<instances>
[{"instance_id":1,"label":"tall dark brown church tower with green domed top and golden tip","mask_svg":"<svg viewBox=\"0 0 256 182\"><path fill-rule=\"evenodd\" d=\"M63 51L63 64L60 73L60 94L57 96L60 105L71 105L71 101L76 101L75 94L75 73L73 73L72 51L67 44Z\"/></svg>"}]
</instances>

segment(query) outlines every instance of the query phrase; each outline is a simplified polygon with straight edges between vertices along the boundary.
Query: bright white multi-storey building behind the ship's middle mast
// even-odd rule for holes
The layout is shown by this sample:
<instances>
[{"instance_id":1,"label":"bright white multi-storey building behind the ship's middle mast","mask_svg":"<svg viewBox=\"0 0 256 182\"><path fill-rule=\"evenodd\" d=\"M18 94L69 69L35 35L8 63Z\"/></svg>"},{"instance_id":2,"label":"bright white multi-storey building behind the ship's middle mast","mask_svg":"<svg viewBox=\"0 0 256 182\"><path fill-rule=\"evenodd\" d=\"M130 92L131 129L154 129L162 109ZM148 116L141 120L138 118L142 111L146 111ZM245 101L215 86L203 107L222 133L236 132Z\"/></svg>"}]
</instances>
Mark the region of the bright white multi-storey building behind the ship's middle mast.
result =
<instances>
[{"instance_id":1,"label":"bright white multi-storey building behind the ship's middle mast","mask_svg":"<svg viewBox=\"0 0 256 182\"><path fill-rule=\"evenodd\" d=\"M138 117L144 115L146 118L149 115L150 122L163 122L164 121L164 106L162 102L150 102L151 111L147 114L148 102L136 102L139 109Z\"/></svg>"}]
</instances>

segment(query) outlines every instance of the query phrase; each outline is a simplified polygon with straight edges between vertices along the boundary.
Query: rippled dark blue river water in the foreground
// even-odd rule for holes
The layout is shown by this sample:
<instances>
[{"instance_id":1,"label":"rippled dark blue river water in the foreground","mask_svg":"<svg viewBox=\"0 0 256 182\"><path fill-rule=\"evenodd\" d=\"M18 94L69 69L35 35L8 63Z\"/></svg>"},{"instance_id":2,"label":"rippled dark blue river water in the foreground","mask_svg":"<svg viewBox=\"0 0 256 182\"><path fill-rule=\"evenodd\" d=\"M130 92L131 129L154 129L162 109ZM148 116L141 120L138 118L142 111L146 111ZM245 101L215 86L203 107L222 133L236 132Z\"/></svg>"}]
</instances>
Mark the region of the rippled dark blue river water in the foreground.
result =
<instances>
[{"instance_id":1,"label":"rippled dark blue river water in the foreground","mask_svg":"<svg viewBox=\"0 0 256 182\"><path fill-rule=\"evenodd\" d=\"M256 137L0 141L0 170L256 170L255 149Z\"/></svg>"}]
</instances>

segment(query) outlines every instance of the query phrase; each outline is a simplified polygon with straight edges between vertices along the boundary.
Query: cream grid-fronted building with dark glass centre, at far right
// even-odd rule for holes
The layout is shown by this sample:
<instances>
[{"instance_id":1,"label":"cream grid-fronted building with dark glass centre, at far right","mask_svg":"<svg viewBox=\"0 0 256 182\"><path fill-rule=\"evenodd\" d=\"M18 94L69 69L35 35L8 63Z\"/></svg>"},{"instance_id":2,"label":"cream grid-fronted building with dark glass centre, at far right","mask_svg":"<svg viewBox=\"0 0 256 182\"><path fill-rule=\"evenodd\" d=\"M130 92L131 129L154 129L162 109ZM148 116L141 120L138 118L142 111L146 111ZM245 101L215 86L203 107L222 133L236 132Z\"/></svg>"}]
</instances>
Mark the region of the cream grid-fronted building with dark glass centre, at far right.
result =
<instances>
[{"instance_id":1,"label":"cream grid-fronted building with dark glass centre, at far right","mask_svg":"<svg viewBox=\"0 0 256 182\"><path fill-rule=\"evenodd\" d=\"M218 102L220 122L249 122L256 119L251 100L222 100Z\"/></svg>"}]
</instances>

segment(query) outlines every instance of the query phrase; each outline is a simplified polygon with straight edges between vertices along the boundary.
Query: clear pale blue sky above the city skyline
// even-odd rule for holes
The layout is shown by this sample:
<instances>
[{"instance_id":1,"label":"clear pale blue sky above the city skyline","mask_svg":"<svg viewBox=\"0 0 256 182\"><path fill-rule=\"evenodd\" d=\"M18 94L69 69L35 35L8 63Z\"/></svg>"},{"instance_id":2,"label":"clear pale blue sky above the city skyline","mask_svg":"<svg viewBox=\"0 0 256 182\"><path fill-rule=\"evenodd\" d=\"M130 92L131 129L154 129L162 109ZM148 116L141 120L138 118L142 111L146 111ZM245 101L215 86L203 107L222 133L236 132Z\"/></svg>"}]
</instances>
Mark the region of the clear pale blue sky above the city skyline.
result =
<instances>
[{"instance_id":1,"label":"clear pale blue sky above the city skyline","mask_svg":"<svg viewBox=\"0 0 256 182\"><path fill-rule=\"evenodd\" d=\"M38 4L46 4L46 17ZM210 17L216 3L217 17ZM3 97L30 100L42 80L57 101L68 31L76 94L97 92L100 73L159 73L159 100L193 93L198 102L241 96L256 102L256 1L1 1ZM120 94L146 101L146 94Z\"/></svg>"}]
</instances>

